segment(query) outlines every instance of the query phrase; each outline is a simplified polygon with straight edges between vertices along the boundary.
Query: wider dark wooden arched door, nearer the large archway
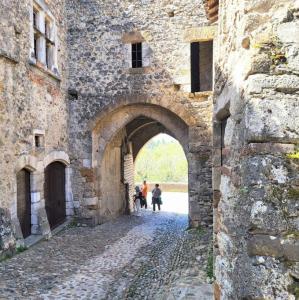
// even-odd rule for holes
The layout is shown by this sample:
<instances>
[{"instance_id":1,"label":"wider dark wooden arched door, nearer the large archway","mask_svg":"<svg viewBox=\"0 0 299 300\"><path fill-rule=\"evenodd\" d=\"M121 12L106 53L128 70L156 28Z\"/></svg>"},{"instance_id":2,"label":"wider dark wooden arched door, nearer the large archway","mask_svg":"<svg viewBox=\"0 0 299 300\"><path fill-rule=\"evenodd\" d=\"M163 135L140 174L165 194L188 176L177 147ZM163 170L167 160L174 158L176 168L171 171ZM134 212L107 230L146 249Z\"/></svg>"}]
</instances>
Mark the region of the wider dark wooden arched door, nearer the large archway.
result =
<instances>
[{"instance_id":1,"label":"wider dark wooden arched door, nearer the large archway","mask_svg":"<svg viewBox=\"0 0 299 300\"><path fill-rule=\"evenodd\" d=\"M46 168L45 206L51 229L65 221L65 166L60 162Z\"/></svg>"}]
</instances>

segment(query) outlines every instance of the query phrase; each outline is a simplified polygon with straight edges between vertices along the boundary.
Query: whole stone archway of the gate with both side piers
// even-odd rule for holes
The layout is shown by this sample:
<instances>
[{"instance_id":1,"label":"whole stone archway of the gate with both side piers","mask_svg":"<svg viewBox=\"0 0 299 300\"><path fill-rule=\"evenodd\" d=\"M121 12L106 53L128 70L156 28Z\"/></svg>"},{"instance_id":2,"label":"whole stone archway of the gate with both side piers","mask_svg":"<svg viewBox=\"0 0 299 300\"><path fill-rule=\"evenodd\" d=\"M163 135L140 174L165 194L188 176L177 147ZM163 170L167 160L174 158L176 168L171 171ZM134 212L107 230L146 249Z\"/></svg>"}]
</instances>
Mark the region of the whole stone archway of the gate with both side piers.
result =
<instances>
[{"instance_id":1,"label":"whole stone archway of the gate with both side piers","mask_svg":"<svg viewBox=\"0 0 299 300\"><path fill-rule=\"evenodd\" d=\"M164 132L181 143L189 162L191 224L211 223L211 147L197 140L198 131L203 136L210 134L208 125L195 124L193 117L183 119L186 111L178 110L176 114L151 103L129 103L104 111L90 123L91 160L83 159L83 168L78 170L84 182L81 217L85 222L98 224L124 213L126 184L131 183L124 178L124 161L127 166L132 164L142 146Z\"/></svg>"}]
</instances>

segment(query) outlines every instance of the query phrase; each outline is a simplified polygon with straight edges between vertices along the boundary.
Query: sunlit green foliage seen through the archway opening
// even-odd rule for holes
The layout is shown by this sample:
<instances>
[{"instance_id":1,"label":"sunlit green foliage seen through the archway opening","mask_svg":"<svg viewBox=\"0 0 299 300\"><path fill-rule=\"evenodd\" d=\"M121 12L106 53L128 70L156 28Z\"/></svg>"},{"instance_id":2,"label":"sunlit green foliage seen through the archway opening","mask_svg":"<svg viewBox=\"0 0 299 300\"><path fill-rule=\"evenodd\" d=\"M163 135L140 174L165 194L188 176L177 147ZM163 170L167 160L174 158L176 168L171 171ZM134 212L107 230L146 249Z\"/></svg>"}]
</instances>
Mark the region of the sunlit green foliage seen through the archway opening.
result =
<instances>
[{"instance_id":1,"label":"sunlit green foliage seen through the archway opening","mask_svg":"<svg viewBox=\"0 0 299 300\"><path fill-rule=\"evenodd\" d=\"M135 182L187 182L188 163L179 142L154 138L140 151L135 164Z\"/></svg>"}]
</instances>

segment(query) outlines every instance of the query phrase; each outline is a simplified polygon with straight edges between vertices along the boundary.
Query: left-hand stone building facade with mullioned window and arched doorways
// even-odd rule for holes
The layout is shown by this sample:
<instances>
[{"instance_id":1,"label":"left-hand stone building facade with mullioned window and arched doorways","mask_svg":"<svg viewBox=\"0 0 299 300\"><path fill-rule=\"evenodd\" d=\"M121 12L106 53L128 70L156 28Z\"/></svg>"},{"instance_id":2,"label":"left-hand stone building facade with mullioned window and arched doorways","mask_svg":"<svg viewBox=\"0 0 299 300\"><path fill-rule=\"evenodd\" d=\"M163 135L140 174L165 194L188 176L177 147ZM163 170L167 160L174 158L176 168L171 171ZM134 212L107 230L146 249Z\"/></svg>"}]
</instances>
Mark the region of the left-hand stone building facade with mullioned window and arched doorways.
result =
<instances>
[{"instance_id":1,"label":"left-hand stone building facade with mullioned window and arched doorways","mask_svg":"<svg viewBox=\"0 0 299 300\"><path fill-rule=\"evenodd\" d=\"M64 3L1 1L0 19L2 256L25 236L51 235L45 176L53 162L64 168L63 214L73 209Z\"/></svg>"}]
</instances>

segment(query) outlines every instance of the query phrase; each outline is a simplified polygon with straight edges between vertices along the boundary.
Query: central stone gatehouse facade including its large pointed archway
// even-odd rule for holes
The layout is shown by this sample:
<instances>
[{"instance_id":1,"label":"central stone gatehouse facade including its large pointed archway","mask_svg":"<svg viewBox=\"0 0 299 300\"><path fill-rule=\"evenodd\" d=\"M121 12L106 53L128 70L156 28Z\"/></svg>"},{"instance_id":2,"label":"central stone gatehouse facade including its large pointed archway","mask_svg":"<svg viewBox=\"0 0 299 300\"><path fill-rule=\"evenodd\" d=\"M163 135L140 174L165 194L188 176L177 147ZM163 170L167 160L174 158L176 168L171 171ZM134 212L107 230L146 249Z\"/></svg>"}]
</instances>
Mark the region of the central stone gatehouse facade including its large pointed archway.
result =
<instances>
[{"instance_id":1,"label":"central stone gatehouse facade including its large pointed archway","mask_svg":"<svg viewBox=\"0 0 299 300\"><path fill-rule=\"evenodd\" d=\"M97 224L122 213L121 160L134 159L150 138L166 132L189 161L190 219L211 222L212 97L211 91L190 94L190 42L213 40L215 32L203 6L69 1L67 20L70 152L80 215ZM136 43L142 44L140 68L132 65Z\"/></svg>"}]
</instances>

